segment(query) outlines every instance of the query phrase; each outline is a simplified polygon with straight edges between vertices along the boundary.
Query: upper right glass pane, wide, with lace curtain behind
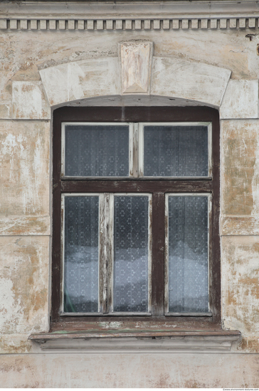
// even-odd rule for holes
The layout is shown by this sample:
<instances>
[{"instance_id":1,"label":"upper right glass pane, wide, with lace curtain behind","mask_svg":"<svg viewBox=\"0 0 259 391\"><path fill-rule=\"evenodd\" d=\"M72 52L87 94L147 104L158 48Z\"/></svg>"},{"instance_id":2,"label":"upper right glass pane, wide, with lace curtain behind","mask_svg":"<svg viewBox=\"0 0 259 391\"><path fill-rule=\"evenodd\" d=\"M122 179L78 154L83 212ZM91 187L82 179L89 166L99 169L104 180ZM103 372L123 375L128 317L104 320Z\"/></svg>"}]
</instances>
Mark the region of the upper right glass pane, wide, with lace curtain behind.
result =
<instances>
[{"instance_id":1,"label":"upper right glass pane, wide, with lace curtain behind","mask_svg":"<svg viewBox=\"0 0 259 391\"><path fill-rule=\"evenodd\" d=\"M144 176L208 176L208 127L144 127Z\"/></svg>"}]
</instances>

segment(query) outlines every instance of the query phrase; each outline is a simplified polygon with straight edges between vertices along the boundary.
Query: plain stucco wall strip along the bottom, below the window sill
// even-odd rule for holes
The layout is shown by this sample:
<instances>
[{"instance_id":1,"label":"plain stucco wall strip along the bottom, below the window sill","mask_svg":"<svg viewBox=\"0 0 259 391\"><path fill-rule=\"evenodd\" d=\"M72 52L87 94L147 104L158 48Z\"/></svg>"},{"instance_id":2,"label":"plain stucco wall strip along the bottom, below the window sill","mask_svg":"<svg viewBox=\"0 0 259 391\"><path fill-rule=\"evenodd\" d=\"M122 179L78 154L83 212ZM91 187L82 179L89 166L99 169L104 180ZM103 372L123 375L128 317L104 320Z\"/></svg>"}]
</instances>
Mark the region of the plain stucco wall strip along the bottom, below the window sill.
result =
<instances>
[{"instance_id":1,"label":"plain stucco wall strip along the bottom, below the window sill","mask_svg":"<svg viewBox=\"0 0 259 391\"><path fill-rule=\"evenodd\" d=\"M0 356L5 387L256 388L258 355Z\"/></svg>"}]
</instances>

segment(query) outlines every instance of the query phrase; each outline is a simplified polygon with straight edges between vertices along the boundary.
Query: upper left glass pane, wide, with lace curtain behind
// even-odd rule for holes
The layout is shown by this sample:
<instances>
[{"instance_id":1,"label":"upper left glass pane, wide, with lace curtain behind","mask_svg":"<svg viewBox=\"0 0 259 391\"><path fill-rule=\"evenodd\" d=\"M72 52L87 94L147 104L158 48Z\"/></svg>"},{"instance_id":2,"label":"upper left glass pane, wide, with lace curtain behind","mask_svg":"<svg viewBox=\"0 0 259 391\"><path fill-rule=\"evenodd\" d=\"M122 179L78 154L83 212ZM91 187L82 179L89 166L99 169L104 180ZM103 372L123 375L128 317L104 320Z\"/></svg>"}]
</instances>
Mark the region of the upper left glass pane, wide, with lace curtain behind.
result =
<instances>
[{"instance_id":1,"label":"upper left glass pane, wide, with lace curtain behind","mask_svg":"<svg viewBox=\"0 0 259 391\"><path fill-rule=\"evenodd\" d=\"M65 125L65 176L129 176L129 127Z\"/></svg>"}]
</instances>

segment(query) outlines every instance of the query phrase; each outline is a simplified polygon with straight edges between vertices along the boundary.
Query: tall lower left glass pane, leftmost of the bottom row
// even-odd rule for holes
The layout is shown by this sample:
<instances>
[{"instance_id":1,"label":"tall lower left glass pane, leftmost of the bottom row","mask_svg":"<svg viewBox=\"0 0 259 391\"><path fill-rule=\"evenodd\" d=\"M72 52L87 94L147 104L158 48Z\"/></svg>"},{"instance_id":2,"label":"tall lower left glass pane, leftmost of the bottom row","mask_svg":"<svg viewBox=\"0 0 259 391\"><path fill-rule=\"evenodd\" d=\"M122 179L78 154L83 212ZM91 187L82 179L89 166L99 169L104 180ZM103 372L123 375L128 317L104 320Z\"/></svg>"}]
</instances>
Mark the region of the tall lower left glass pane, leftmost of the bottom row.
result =
<instances>
[{"instance_id":1,"label":"tall lower left glass pane, leftmost of the bottom row","mask_svg":"<svg viewBox=\"0 0 259 391\"><path fill-rule=\"evenodd\" d=\"M97 196L65 197L64 312L98 311Z\"/></svg>"}]
</instances>

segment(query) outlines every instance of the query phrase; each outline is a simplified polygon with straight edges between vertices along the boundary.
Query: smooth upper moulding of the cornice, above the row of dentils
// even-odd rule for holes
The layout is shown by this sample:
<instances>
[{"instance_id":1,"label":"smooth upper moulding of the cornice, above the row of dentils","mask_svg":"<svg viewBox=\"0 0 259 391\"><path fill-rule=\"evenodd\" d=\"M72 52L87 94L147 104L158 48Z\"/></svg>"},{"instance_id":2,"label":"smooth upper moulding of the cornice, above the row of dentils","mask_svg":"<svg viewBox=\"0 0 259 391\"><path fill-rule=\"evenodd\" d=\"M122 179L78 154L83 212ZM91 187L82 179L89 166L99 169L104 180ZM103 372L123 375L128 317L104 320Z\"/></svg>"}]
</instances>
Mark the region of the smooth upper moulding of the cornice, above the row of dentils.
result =
<instances>
[{"instance_id":1,"label":"smooth upper moulding of the cornice, above the row of dentils","mask_svg":"<svg viewBox=\"0 0 259 391\"><path fill-rule=\"evenodd\" d=\"M0 15L149 17L249 17L259 13L259 1L21 1L0 4Z\"/></svg>"}]
</instances>

